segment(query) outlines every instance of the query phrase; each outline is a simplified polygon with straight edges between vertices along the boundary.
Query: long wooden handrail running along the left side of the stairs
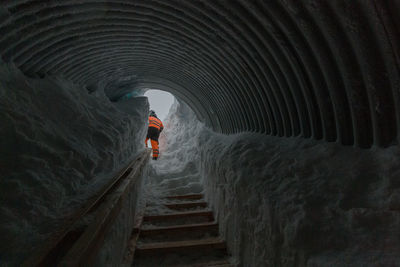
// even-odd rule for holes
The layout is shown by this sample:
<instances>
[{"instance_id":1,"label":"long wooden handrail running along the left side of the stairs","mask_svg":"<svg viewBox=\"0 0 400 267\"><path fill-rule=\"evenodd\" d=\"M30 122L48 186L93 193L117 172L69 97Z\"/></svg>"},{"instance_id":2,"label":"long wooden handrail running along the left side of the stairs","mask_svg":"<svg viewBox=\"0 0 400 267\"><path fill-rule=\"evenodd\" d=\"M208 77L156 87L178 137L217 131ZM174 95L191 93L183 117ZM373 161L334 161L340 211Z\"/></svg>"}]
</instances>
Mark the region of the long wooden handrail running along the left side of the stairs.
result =
<instances>
[{"instance_id":1,"label":"long wooden handrail running along the left side of the stairs","mask_svg":"<svg viewBox=\"0 0 400 267\"><path fill-rule=\"evenodd\" d=\"M119 214L122 201L142 173L150 152L146 149L114 176L95 197L67 218L63 227L22 266L87 266L101 248L105 232ZM87 226L79 226L78 222L88 214L94 214L94 219Z\"/></svg>"}]
</instances>

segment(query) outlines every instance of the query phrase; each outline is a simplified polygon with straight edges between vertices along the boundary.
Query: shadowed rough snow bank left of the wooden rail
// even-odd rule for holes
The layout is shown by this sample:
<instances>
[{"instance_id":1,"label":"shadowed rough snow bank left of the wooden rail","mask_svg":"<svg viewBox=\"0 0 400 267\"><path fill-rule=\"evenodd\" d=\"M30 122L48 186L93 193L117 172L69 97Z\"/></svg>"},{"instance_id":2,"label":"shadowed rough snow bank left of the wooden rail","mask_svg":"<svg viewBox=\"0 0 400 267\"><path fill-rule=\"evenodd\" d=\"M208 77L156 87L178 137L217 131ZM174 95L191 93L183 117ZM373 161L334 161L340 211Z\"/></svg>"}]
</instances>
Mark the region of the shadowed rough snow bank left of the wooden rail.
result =
<instances>
[{"instance_id":1,"label":"shadowed rough snow bank left of the wooden rail","mask_svg":"<svg viewBox=\"0 0 400 267\"><path fill-rule=\"evenodd\" d=\"M0 264L28 256L144 148L147 110L0 62Z\"/></svg>"}]
</instances>

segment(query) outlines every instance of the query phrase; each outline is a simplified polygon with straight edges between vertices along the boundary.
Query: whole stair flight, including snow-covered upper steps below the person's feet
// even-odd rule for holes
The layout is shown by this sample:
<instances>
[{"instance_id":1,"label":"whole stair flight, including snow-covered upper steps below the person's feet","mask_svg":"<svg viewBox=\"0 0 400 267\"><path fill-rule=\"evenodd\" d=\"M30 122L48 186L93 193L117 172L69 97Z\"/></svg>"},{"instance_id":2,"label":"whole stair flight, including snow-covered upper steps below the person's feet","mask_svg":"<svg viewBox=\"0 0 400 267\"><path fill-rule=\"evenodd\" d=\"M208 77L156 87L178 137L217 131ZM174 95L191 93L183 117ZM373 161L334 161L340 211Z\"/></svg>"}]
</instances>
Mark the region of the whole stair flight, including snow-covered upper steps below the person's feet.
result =
<instances>
[{"instance_id":1,"label":"whole stair flight, including snow-covered upper steps below the person's feet","mask_svg":"<svg viewBox=\"0 0 400 267\"><path fill-rule=\"evenodd\" d=\"M234 266L197 170L175 160L166 151L150 163L133 266Z\"/></svg>"}]
</instances>

